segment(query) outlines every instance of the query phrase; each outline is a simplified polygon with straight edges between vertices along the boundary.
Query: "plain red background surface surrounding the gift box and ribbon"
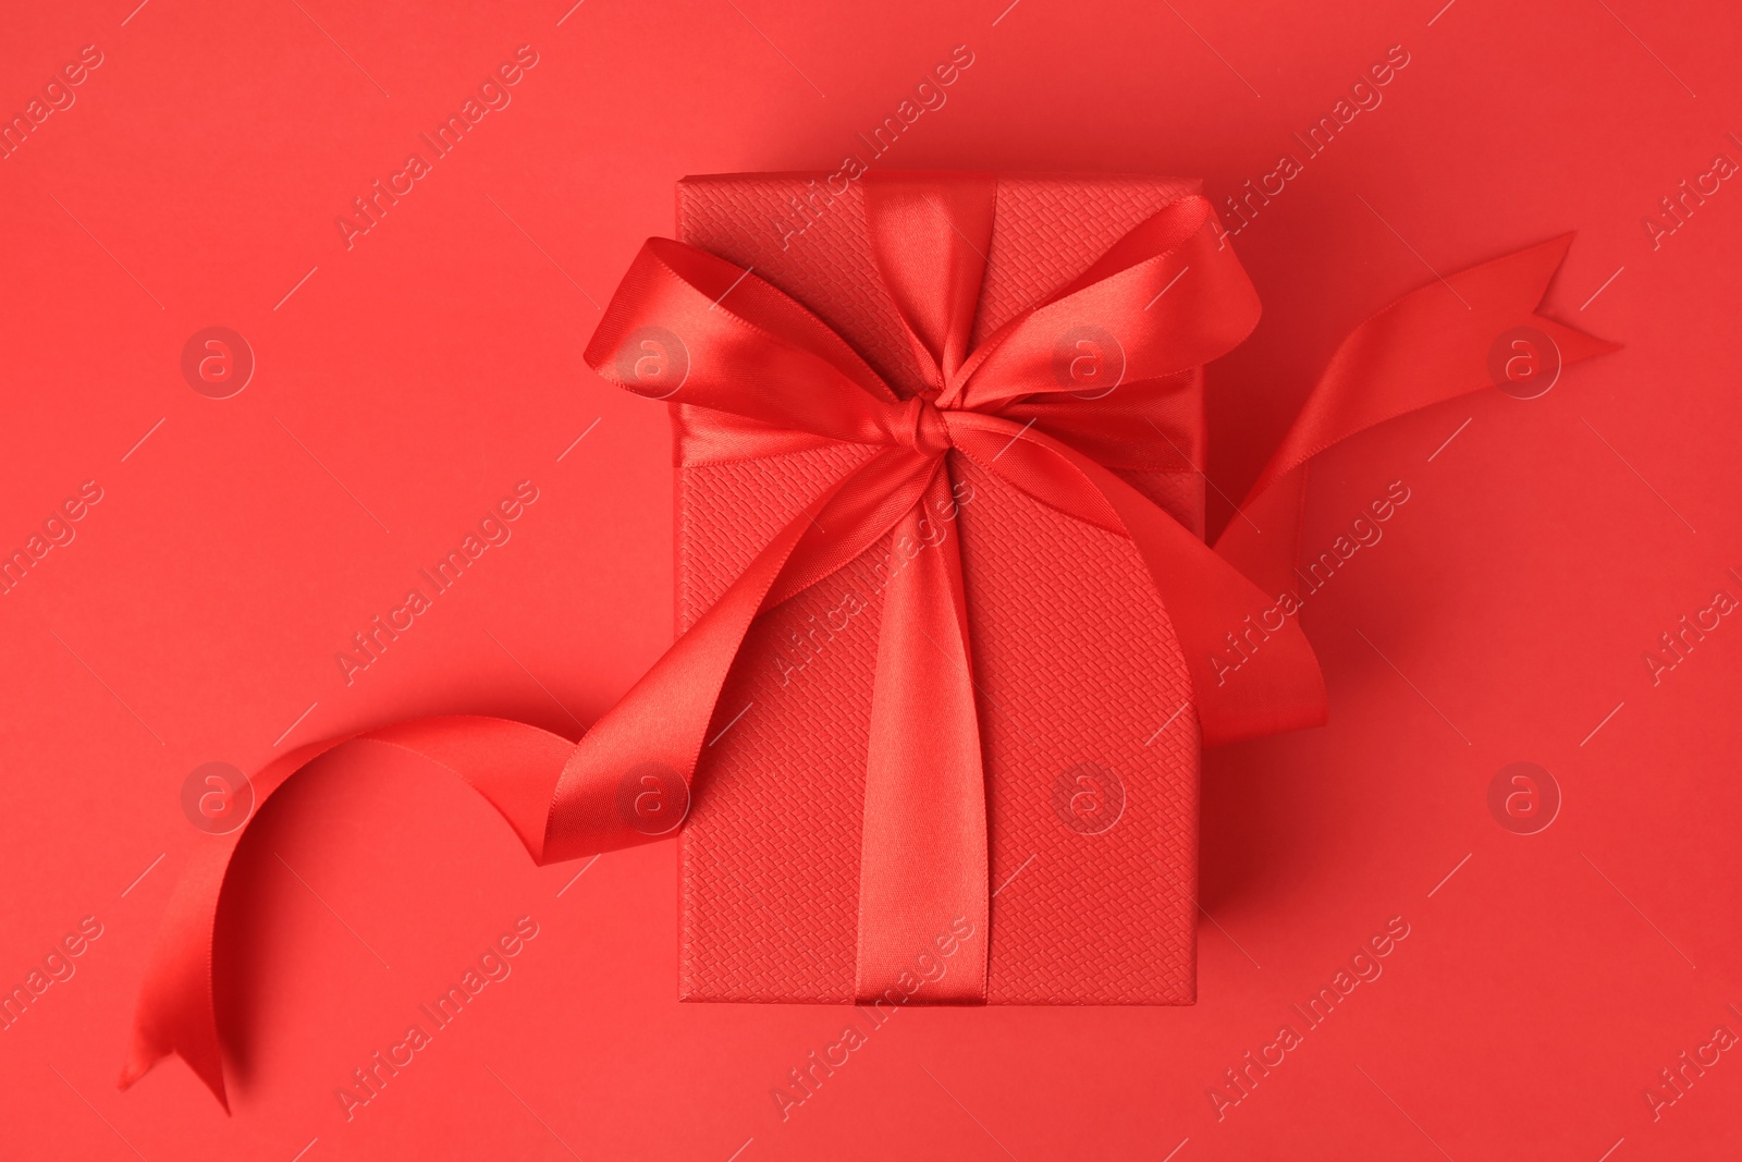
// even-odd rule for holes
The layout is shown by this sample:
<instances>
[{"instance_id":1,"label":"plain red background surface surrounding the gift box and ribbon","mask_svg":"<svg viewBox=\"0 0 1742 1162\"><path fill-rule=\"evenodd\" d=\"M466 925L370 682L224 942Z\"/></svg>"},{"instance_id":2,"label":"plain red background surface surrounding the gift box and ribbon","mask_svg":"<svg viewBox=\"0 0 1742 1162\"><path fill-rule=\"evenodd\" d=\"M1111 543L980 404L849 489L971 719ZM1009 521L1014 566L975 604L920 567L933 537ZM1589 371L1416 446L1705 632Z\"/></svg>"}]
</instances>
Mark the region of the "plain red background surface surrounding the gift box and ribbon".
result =
<instances>
[{"instance_id":1,"label":"plain red background surface surrounding the gift box and ribbon","mask_svg":"<svg viewBox=\"0 0 1742 1162\"><path fill-rule=\"evenodd\" d=\"M105 498L0 598L0 983L105 932L0 1033L3 1157L1735 1155L1735 1052L1657 1120L1643 1091L1742 1033L1742 627L1657 686L1641 655L1742 596L1742 192L1657 249L1641 218L1742 159L1742 17L1003 2L7 5L0 110L105 59L0 160L0 547L82 481ZM521 44L512 105L347 249L333 220ZM669 845L571 882L456 780L369 754L244 847L235 1115L179 1063L117 1092L202 838L188 772L430 713L577 733L657 657L667 425L584 368L594 303L671 233L678 176L833 169L958 44L976 63L883 164L1202 174L1218 202L1409 52L1237 239L1266 315L1212 368L1225 493L1430 268L1577 228L1547 310L1627 343L1315 470L1308 545L1394 479L1411 502L1310 603L1331 726L1207 756L1198 1005L902 1012L780 1120L768 1091L850 1014L678 1005ZM214 324L258 359L223 401L179 371ZM521 479L514 540L347 686L334 652ZM1538 834L1489 814L1514 761L1563 793ZM512 977L347 1122L334 1089L521 915ZM1223 1070L1390 916L1383 976L1218 1120Z\"/></svg>"}]
</instances>

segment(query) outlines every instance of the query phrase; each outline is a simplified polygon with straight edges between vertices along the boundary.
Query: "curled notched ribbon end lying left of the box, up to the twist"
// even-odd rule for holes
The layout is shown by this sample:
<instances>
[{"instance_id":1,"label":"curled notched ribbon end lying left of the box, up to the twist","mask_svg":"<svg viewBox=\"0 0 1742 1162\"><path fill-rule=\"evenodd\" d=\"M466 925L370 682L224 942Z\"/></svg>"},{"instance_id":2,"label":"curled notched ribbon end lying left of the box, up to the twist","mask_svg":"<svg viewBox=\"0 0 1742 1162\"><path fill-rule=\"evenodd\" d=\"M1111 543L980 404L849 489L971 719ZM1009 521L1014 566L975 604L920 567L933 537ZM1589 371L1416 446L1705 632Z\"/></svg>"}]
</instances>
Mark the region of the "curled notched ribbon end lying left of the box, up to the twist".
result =
<instances>
[{"instance_id":1,"label":"curled notched ribbon end lying left of the box, up to the twist","mask_svg":"<svg viewBox=\"0 0 1742 1162\"><path fill-rule=\"evenodd\" d=\"M376 742L395 746L448 768L502 812L516 834L542 861L544 812L550 786L573 744L547 730L503 718L423 718L305 746L254 775L254 815L293 775L334 749ZM174 1054L230 1111L223 1080L218 1014L213 1005L213 944L218 901L237 845L247 824L200 841L164 913L139 986L132 1045L120 1073L120 1089L145 1077Z\"/></svg>"}]
</instances>

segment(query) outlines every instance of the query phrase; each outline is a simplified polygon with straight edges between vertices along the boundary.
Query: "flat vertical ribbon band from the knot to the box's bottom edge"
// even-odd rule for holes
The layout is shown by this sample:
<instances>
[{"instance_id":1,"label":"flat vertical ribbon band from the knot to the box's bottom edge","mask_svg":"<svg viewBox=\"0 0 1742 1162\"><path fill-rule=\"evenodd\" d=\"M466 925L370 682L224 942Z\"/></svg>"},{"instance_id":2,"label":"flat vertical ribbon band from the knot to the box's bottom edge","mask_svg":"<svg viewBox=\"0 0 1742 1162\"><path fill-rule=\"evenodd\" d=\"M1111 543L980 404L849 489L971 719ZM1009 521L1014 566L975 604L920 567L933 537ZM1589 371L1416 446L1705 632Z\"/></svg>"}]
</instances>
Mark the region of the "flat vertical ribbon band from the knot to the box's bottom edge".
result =
<instances>
[{"instance_id":1,"label":"flat vertical ribbon band from the knot to the box's bottom edge","mask_svg":"<svg viewBox=\"0 0 1742 1162\"><path fill-rule=\"evenodd\" d=\"M895 524L883 591L859 862L855 995L871 1002L939 937L960 942L934 998L984 1003L986 768L981 756L960 537L927 516L949 503L939 472Z\"/></svg>"}]
</instances>

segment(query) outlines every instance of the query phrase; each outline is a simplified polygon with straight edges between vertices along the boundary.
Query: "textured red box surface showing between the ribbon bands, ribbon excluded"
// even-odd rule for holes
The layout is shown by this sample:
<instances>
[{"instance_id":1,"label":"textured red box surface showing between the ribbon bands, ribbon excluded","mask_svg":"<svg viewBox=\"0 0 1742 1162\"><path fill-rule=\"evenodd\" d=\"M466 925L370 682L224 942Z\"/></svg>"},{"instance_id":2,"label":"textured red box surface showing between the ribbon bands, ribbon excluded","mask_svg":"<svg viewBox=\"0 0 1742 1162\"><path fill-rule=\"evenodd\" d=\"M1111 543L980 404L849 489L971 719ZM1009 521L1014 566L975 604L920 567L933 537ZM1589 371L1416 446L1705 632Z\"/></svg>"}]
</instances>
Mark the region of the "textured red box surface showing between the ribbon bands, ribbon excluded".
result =
<instances>
[{"instance_id":1,"label":"textured red box surface showing between the ribbon bands, ribbon excluded","mask_svg":"<svg viewBox=\"0 0 1742 1162\"><path fill-rule=\"evenodd\" d=\"M824 193L826 183L686 178L679 237L786 291L911 397L925 383L873 263L862 183ZM970 347L1197 188L1000 176ZM1071 399L1087 408L1117 390L1117 355L1090 343L1080 357ZM1202 531L1204 484L1192 469L1204 443L1202 371L1171 390L1178 423L1151 436L1176 463L1124 476ZM686 411L672 404L679 463ZM678 631L868 455L836 446L679 467ZM1192 1003L1198 726L1167 611L1129 540L965 456L951 455L948 472L986 770L986 1000ZM765 611L744 639L679 838L685 1000L855 1000L864 756L890 542ZM951 934L939 936L913 948L913 981L958 970L944 955Z\"/></svg>"}]
</instances>

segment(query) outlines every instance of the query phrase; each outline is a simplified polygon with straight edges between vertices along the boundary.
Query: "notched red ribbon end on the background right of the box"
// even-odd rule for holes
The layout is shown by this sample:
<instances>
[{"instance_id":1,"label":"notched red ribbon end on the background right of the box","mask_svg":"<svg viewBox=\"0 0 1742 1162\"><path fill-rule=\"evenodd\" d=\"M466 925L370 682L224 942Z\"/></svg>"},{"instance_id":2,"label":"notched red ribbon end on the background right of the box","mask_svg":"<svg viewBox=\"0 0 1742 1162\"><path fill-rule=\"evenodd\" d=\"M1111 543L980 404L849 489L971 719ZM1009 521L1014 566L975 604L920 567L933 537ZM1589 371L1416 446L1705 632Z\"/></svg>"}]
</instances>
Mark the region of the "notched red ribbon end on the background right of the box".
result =
<instances>
[{"instance_id":1,"label":"notched red ribbon end on the background right of the box","mask_svg":"<svg viewBox=\"0 0 1742 1162\"><path fill-rule=\"evenodd\" d=\"M1540 350L1547 341L1561 366L1620 350L1618 343L1536 314L1571 242L1566 233L1460 270L1357 326L1336 348L1216 551L1273 592L1291 589L1312 456L1387 420L1496 387L1493 352L1496 345L1510 352L1509 340L1524 341L1536 359L1550 354Z\"/></svg>"}]
</instances>

